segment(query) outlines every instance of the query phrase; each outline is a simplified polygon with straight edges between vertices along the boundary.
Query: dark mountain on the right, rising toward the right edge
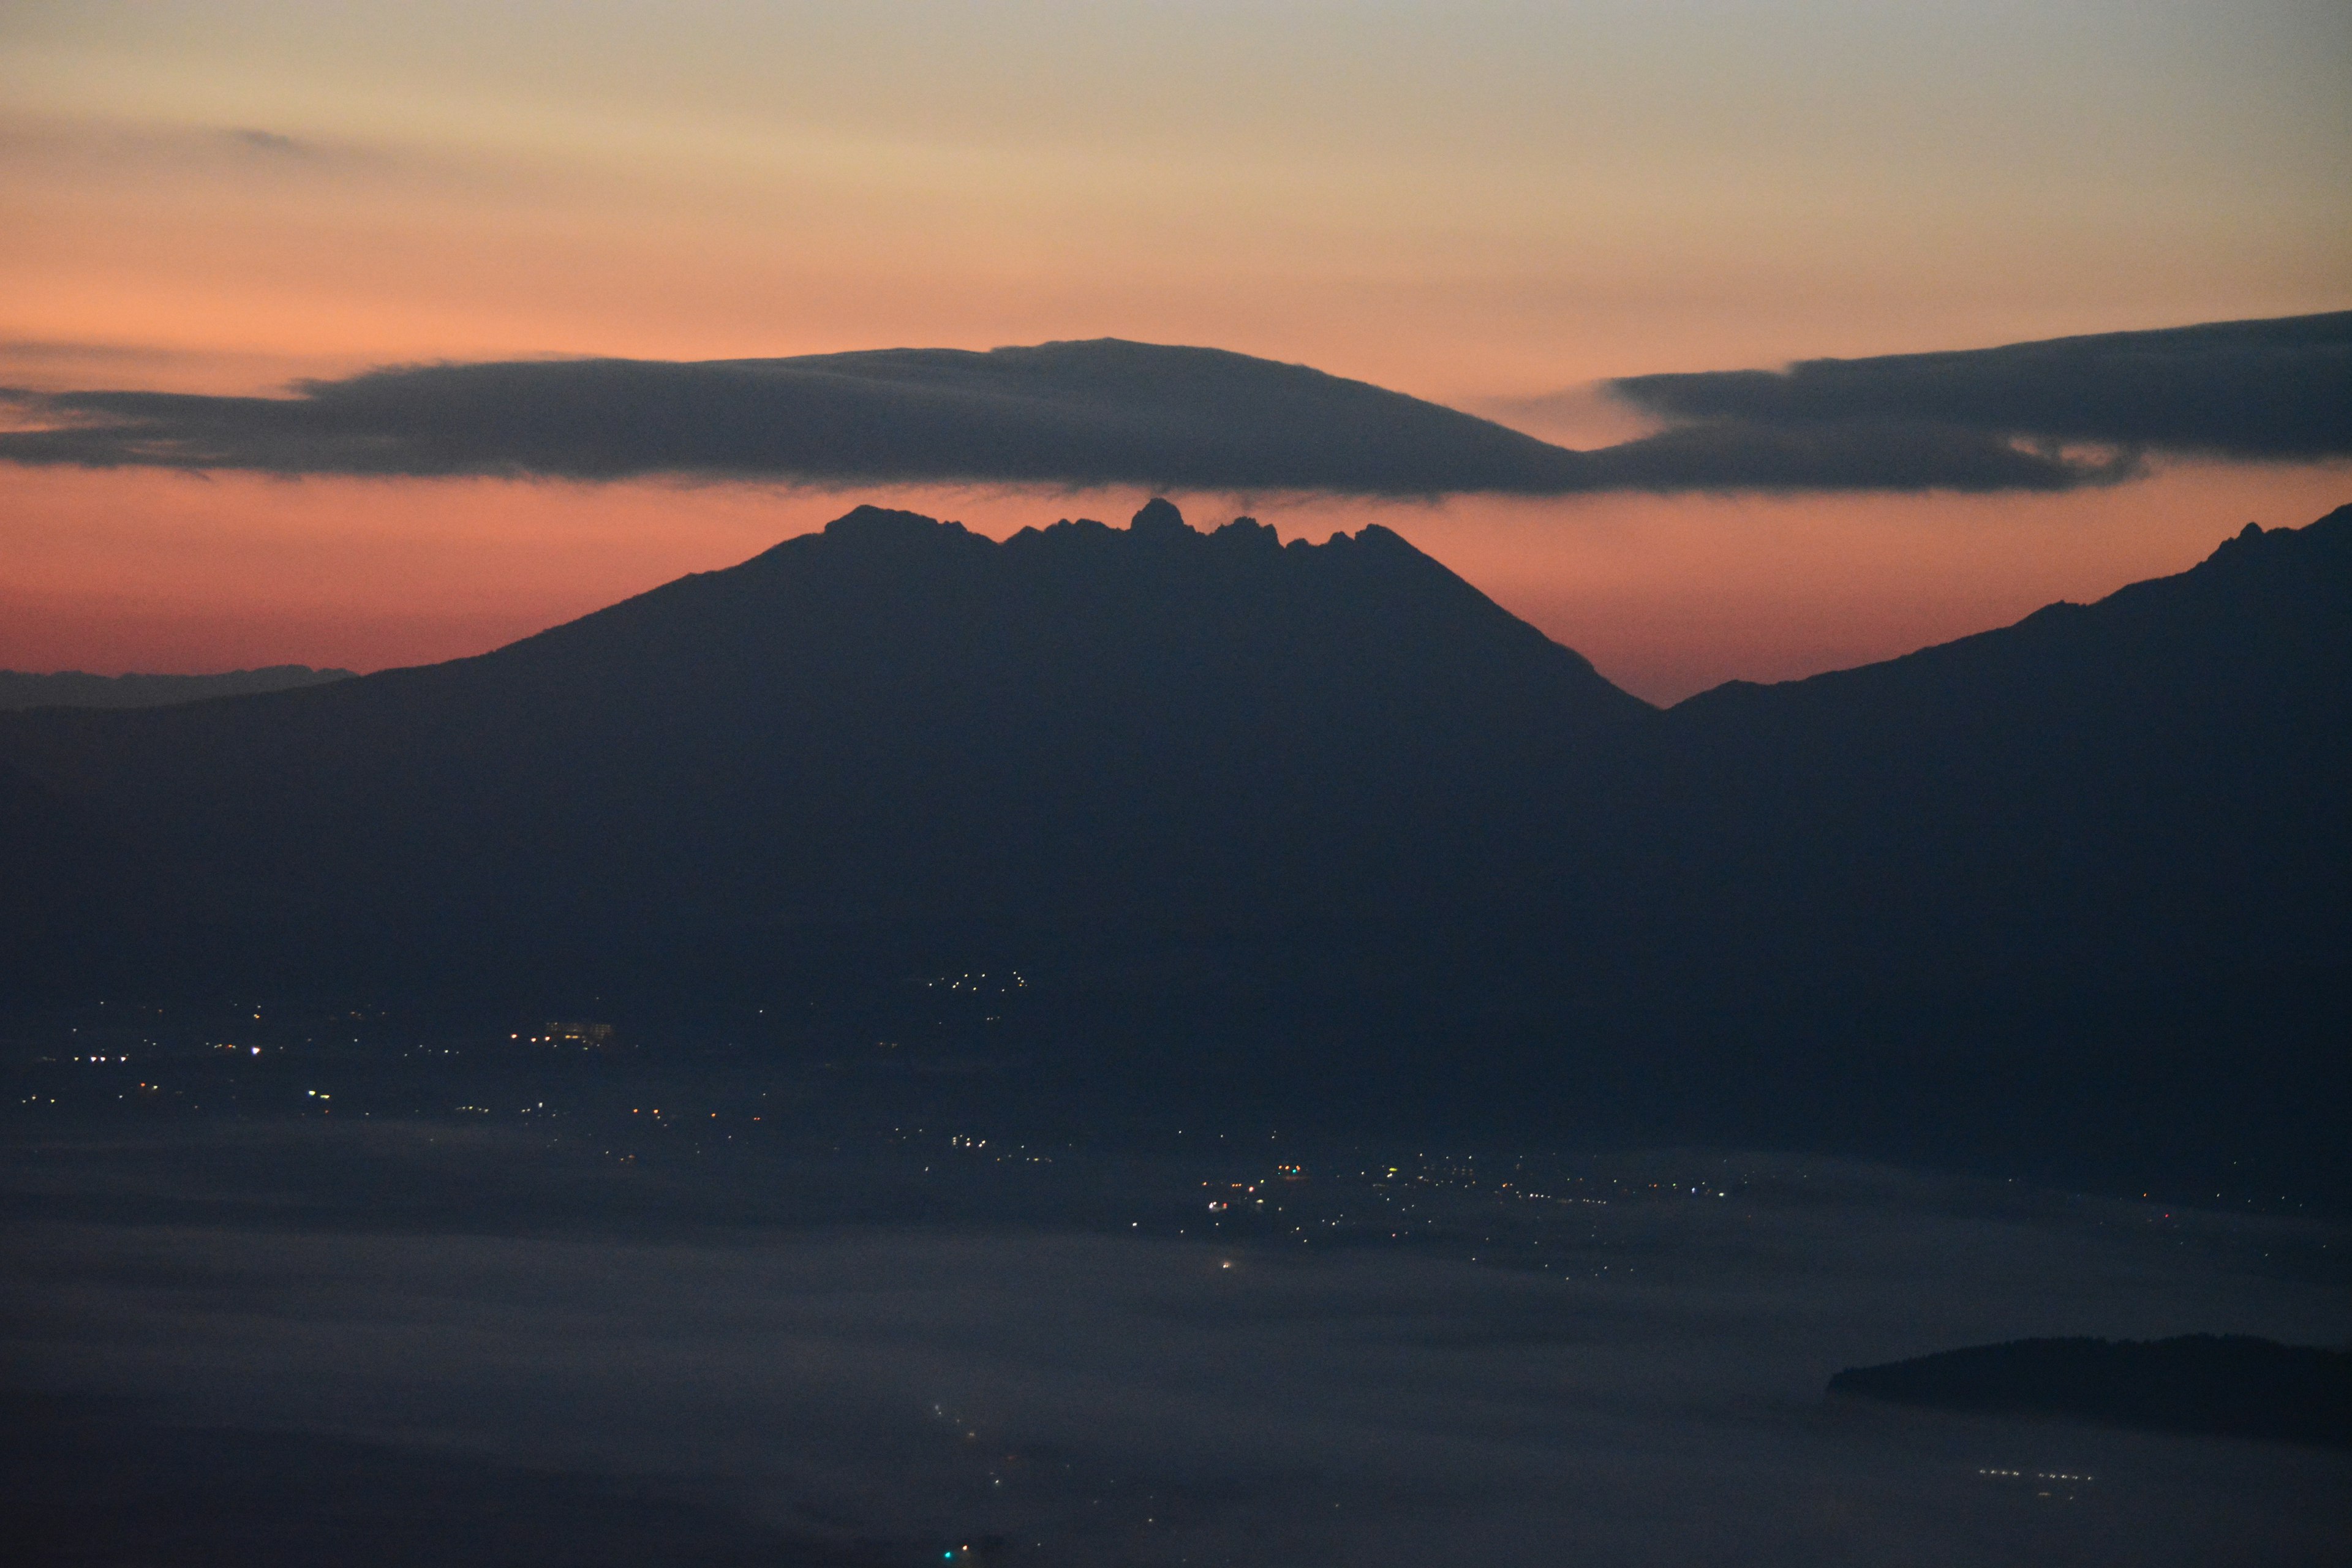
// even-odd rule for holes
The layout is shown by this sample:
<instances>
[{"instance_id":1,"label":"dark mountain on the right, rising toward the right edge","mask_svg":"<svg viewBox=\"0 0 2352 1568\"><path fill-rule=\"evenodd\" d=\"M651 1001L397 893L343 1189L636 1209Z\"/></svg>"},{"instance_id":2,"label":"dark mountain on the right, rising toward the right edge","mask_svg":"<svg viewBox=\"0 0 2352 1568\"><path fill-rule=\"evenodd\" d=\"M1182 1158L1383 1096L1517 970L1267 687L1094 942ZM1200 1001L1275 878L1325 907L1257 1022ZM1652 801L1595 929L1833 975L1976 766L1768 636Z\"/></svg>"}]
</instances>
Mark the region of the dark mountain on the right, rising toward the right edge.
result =
<instances>
[{"instance_id":1,"label":"dark mountain on the right, rising toward the right edge","mask_svg":"<svg viewBox=\"0 0 2352 1568\"><path fill-rule=\"evenodd\" d=\"M1679 853L1644 886L1682 966L1651 990L1759 1126L1806 1084L1889 1154L2343 1171L2352 508L1663 729L1642 776Z\"/></svg>"}]
</instances>

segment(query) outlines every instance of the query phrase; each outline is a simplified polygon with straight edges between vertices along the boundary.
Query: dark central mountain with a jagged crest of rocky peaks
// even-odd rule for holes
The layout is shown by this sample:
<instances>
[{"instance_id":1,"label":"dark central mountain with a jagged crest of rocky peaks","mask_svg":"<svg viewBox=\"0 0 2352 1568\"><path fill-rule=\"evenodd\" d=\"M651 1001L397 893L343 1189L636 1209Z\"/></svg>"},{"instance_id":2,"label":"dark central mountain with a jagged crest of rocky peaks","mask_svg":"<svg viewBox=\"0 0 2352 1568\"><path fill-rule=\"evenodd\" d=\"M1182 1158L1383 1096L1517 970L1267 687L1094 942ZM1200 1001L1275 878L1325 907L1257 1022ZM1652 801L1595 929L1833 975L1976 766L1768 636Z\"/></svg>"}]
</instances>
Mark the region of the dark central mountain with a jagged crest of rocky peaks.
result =
<instances>
[{"instance_id":1,"label":"dark central mountain with a jagged crest of rocky peaks","mask_svg":"<svg viewBox=\"0 0 2352 1568\"><path fill-rule=\"evenodd\" d=\"M1649 717L1378 527L858 508L480 658L5 750L306 931L609 943L1409 900Z\"/></svg>"}]
</instances>

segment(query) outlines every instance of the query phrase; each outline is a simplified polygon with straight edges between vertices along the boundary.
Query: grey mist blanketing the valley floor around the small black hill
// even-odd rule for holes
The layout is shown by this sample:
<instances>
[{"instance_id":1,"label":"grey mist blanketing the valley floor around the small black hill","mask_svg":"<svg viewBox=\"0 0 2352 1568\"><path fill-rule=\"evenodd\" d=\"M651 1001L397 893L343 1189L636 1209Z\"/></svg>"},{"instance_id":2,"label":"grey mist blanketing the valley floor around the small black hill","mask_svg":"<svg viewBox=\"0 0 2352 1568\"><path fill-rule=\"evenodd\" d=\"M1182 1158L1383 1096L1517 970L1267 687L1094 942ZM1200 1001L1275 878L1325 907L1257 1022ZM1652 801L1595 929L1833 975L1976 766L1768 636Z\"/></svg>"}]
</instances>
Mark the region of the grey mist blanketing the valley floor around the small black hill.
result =
<instances>
[{"instance_id":1,"label":"grey mist blanketing the valley floor around the small black hill","mask_svg":"<svg viewBox=\"0 0 2352 1568\"><path fill-rule=\"evenodd\" d=\"M2333 1222L1726 1152L1190 1140L21 1133L9 1502L73 1561L2352 1542L2347 1455L1823 1399L1842 1366L2039 1333L2343 1342Z\"/></svg>"}]
</instances>

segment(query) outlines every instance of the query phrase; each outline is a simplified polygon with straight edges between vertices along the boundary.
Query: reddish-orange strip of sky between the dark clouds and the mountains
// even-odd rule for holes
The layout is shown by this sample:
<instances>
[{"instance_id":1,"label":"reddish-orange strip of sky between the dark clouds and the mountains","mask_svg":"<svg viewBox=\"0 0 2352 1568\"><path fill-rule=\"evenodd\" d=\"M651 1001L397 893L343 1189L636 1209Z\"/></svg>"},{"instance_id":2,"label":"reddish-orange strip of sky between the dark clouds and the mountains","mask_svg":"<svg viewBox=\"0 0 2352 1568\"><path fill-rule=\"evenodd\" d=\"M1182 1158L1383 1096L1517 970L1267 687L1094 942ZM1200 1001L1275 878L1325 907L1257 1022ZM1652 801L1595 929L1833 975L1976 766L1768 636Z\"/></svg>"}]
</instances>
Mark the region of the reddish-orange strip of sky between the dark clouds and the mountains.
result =
<instances>
[{"instance_id":1,"label":"reddish-orange strip of sky between the dark clouds and the mountains","mask_svg":"<svg viewBox=\"0 0 2352 1568\"><path fill-rule=\"evenodd\" d=\"M482 654L821 529L858 501L1002 538L1124 524L1143 491L21 473L0 668L376 670ZM1242 510L1178 496L1195 527ZM1649 701L1788 679L2185 571L2249 520L2300 527L2352 468L2178 465L2065 496L1256 501L1284 538L1381 524Z\"/></svg>"}]
</instances>

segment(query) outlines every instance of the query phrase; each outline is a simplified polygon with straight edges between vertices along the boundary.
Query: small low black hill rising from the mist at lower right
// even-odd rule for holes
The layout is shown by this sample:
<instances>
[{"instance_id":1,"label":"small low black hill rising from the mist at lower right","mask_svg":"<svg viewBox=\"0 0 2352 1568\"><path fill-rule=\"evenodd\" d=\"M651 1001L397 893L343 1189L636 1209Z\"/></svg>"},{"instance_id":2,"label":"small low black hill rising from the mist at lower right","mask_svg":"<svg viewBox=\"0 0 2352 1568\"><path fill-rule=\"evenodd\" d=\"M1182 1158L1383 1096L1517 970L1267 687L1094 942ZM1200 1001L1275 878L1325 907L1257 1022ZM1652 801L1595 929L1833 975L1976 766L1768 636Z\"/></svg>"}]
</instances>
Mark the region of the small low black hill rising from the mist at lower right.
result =
<instances>
[{"instance_id":1,"label":"small low black hill rising from the mist at lower right","mask_svg":"<svg viewBox=\"0 0 2352 1568\"><path fill-rule=\"evenodd\" d=\"M1830 1394L2110 1427L2352 1446L2352 1352L2251 1335L2011 1340L1830 1378Z\"/></svg>"}]
</instances>

